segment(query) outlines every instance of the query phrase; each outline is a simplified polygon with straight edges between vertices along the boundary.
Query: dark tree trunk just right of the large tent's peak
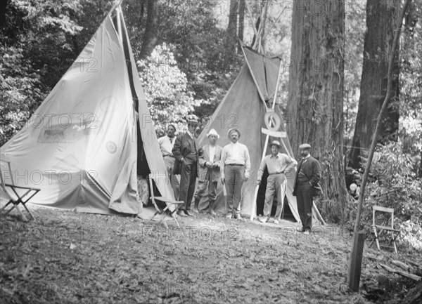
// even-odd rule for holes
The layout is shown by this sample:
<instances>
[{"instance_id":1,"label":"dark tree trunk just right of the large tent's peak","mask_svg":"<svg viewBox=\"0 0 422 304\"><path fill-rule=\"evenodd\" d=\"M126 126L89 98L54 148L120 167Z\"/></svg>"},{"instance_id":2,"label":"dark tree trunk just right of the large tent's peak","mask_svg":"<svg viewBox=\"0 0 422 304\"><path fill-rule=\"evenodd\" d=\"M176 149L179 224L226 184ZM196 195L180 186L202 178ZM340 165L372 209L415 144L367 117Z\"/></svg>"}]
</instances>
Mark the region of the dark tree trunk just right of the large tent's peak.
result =
<instances>
[{"instance_id":1,"label":"dark tree trunk just right of the large tent's peak","mask_svg":"<svg viewBox=\"0 0 422 304\"><path fill-rule=\"evenodd\" d=\"M145 59L153 53L155 45L158 41L158 15L157 15L157 0L146 0L148 6L146 8L146 28L143 34L143 41L139 59Z\"/></svg>"}]
</instances>

